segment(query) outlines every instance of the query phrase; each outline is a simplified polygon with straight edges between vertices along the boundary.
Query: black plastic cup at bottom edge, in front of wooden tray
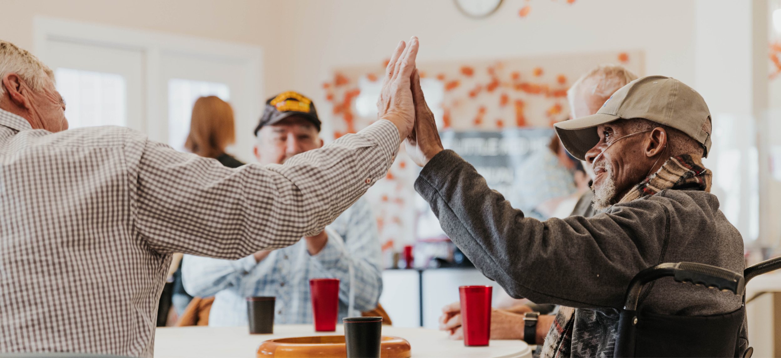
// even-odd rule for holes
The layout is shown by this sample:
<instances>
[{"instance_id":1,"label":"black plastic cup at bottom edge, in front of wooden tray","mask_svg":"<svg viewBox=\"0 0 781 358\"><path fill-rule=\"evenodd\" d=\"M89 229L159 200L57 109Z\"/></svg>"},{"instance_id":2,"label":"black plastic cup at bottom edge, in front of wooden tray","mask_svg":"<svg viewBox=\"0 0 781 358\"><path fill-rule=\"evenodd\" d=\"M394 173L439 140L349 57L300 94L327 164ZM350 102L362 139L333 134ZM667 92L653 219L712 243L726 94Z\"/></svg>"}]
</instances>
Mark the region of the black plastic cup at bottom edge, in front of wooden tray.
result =
<instances>
[{"instance_id":1,"label":"black plastic cup at bottom edge, in front of wooden tray","mask_svg":"<svg viewBox=\"0 0 781 358\"><path fill-rule=\"evenodd\" d=\"M380 358L383 317L342 318L348 358Z\"/></svg>"}]
</instances>

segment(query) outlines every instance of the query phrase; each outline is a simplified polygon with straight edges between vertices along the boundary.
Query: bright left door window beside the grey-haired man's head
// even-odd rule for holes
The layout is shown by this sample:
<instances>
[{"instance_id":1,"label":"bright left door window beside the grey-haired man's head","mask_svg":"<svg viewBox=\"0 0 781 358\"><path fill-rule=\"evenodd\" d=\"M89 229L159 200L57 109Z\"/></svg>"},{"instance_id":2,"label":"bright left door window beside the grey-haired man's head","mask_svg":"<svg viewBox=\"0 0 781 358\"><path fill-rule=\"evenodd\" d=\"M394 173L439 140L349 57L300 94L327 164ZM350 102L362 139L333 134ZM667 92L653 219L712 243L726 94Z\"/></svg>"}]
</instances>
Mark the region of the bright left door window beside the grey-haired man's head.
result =
<instances>
[{"instance_id":1,"label":"bright left door window beside the grey-haired man's head","mask_svg":"<svg viewBox=\"0 0 781 358\"><path fill-rule=\"evenodd\" d=\"M125 77L59 67L55 79L57 91L66 101L70 128L127 126Z\"/></svg>"}]
</instances>

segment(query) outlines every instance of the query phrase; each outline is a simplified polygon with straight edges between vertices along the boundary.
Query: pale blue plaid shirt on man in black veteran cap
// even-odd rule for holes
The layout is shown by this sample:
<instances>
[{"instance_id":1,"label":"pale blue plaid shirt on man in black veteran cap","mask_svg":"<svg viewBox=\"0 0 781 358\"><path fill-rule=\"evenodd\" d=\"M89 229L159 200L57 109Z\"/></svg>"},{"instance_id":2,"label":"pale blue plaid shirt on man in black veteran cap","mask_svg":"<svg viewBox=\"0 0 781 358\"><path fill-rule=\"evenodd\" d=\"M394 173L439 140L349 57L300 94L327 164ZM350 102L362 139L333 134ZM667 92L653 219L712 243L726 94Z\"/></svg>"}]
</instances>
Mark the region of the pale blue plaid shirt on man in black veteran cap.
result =
<instances>
[{"instance_id":1,"label":"pale blue plaid shirt on man in black veteran cap","mask_svg":"<svg viewBox=\"0 0 781 358\"><path fill-rule=\"evenodd\" d=\"M305 240L270 252L260 263L251 255L236 261L185 255L184 288L191 295L216 295L209 326L247 325L244 298L248 296L276 297L275 324L308 324L312 323L309 279L338 278L341 319L351 317L347 312L351 261L354 310L373 310L383 286L382 250L369 202L358 199L326 227L326 233L328 243L315 256L309 255Z\"/></svg>"}]
</instances>

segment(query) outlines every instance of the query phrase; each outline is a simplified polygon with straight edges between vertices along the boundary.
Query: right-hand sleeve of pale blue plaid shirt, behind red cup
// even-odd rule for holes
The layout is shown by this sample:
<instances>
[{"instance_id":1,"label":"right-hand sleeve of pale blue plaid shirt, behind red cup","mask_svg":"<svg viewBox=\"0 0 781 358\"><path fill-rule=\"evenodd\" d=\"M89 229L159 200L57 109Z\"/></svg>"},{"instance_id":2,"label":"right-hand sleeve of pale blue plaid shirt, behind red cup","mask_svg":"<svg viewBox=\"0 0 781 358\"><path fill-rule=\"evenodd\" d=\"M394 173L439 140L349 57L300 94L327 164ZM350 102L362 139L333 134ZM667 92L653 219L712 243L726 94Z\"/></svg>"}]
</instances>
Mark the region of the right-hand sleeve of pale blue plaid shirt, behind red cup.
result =
<instances>
[{"instance_id":1,"label":"right-hand sleeve of pale blue plaid shirt, behind red cup","mask_svg":"<svg viewBox=\"0 0 781 358\"><path fill-rule=\"evenodd\" d=\"M355 277L352 282L355 285L355 310L374 310L383 291L380 234L366 199L359 199L350 210L344 232L326 231L328 242L311 259L317 260L330 276L339 279L339 299L343 303L348 303L350 299L351 261ZM341 234L346 245L337 245L338 238L333 237L337 234Z\"/></svg>"}]
</instances>

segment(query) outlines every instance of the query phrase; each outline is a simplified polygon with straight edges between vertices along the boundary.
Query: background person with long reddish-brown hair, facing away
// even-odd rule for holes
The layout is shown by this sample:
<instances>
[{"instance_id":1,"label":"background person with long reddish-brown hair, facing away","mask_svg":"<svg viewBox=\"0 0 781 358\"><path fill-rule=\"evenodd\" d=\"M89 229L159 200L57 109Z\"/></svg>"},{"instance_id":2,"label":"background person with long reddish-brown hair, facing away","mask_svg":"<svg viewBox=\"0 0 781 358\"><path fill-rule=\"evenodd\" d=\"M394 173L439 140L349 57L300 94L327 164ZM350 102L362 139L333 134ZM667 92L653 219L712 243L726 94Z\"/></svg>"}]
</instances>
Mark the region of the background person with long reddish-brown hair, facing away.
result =
<instances>
[{"instance_id":1,"label":"background person with long reddish-brown hair, facing away","mask_svg":"<svg viewBox=\"0 0 781 358\"><path fill-rule=\"evenodd\" d=\"M206 158L219 160L223 166L237 168L243 166L239 160L225 152L228 145L236 142L236 125L234 124L234 109L228 102L210 95L201 97L193 105L190 120L190 133L184 142L184 149ZM187 294L182 285L182 253L173 254L171 270L173 274L173 308L181 317L187 304L193 297Z\"/></svg>"}]
</instances>

